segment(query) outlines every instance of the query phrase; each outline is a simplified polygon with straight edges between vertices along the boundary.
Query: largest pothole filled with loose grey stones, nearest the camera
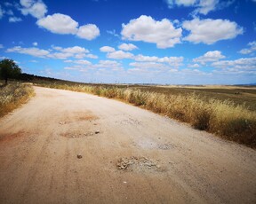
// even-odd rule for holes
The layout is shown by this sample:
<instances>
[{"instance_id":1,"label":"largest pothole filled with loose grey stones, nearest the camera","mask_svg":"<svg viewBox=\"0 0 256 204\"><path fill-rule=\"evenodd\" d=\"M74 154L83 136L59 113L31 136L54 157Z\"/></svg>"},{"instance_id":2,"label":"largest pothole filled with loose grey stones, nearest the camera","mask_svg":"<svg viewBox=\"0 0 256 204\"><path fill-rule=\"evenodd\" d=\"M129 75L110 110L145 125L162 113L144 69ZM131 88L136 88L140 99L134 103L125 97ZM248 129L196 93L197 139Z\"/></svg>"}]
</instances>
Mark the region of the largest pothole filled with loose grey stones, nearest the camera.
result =
<instances>
[{"instance_id":1,"label":"largest pothole filled with loose grey stones, nearest the camera","mask_svg":"<svg viewBox=\"0 0 256 204\"><path fill-rule=\"evenodd\" d=\"M161 169L161 165L157 161L148 159L147 157L122 157L116 163L119 170L143 170L143 169Z\"/></svg>"}]
</instances>

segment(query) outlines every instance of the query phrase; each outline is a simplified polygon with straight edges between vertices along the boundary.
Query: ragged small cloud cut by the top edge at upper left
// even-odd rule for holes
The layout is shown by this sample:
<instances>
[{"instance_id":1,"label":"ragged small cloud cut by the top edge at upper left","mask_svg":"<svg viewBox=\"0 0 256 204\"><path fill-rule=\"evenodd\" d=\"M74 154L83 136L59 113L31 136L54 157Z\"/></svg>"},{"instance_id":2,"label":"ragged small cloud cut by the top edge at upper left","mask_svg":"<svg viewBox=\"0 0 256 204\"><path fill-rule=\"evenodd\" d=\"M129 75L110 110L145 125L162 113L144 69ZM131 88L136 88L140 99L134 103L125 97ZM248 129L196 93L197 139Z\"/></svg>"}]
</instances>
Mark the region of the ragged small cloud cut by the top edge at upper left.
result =
<instances>
[{"instance_id":1,"label":"ragged small cloud cut by the top edge at upper left","mask_svg":"<svg viewBox=\"0 0 256 204\"><path fill-rule=\"evenodd\" d=\"M41 19L47 12L47 6L41 0L20 0L22 8L20 9L23 15L32 15L36 19Z\"/></svg>"}]
</instances>

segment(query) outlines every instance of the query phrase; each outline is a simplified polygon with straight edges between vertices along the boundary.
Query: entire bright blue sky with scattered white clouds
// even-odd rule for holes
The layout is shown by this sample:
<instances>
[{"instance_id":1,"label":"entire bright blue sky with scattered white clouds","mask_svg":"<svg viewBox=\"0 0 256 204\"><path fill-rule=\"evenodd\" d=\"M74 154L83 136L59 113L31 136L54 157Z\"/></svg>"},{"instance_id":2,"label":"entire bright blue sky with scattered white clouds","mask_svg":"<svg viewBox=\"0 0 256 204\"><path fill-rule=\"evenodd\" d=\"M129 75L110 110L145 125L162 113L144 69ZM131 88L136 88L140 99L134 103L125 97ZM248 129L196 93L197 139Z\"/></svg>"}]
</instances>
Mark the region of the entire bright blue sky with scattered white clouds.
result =
<instances>
[{"instance_id":1,"label":"entire bright blue sky with scattered white clouds","mask_svg":"<svg viewBox=\"0 0 256 204\"><path fill-rule=\"evenodd\" d=\"M256 82L256 0L0 2L0 58L76 82Z\"/></svg>"}]
</instances>

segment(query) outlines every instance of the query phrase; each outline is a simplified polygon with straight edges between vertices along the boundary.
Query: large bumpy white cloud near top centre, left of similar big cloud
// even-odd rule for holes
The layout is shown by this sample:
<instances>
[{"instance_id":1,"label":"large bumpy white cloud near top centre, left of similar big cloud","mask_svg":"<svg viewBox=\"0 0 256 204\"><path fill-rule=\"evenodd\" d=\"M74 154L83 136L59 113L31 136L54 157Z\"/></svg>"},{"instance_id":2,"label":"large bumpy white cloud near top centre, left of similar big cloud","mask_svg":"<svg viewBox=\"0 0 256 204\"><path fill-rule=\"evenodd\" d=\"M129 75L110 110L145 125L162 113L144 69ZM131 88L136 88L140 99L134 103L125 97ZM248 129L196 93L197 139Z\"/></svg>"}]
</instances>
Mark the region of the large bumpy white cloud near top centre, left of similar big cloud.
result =
<instances>
[{"instance_id":1,"label":"large bumpy white cloud near top centre, left of similar big cloud","mask_svg":"<svg viewBox=\"0 0 256 204\"><path fill-rule=\"evenodd\" d=\"M122 24L124 40L156 43L157 48L173 47L180 43L181 28L175 28L170 20L154 20L150 16L141 15L140 18Z\"/></svg>"}]
</instances>

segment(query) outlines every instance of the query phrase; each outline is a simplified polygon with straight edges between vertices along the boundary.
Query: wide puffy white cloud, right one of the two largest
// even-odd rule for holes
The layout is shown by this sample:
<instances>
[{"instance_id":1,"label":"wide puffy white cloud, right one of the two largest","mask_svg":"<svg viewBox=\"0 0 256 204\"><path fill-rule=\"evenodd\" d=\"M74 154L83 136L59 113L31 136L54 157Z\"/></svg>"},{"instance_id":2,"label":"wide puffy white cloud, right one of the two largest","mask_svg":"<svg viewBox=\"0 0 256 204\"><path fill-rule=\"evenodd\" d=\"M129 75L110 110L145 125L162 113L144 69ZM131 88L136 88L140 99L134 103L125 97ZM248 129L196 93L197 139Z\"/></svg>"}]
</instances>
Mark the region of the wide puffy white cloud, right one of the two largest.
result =
<instances>
[{"instance_id":1,"label":"wide puffy white cloud, right one of the two largest","mask_svg":"<svg viewBox=\"0 0 256 204\"><path fill-rule=\"evenodd\" d=\"M212 44L220 40L235 38L244 33L243 27L239 27L236 22L229 20L186 20L182 27L190 32L184 40L192 43Z\"/></svg>"}]
</instances>

